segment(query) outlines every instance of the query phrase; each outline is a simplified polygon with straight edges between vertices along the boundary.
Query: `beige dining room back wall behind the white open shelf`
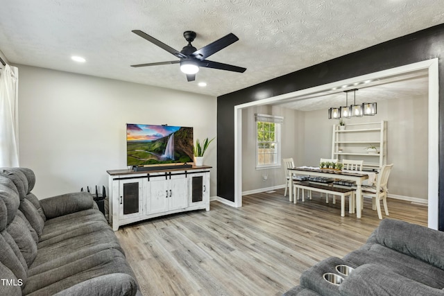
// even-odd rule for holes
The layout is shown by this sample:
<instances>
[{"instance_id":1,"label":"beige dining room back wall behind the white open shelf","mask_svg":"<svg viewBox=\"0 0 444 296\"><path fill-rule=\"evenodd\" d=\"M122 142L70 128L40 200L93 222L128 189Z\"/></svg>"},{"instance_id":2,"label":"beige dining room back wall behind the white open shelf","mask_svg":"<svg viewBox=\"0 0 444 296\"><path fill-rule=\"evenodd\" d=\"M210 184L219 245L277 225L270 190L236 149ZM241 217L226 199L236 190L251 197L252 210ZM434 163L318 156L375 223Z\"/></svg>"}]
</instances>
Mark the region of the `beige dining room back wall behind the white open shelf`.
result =
<instances>
[{"instance_id":1,"label":"beige dining room back wall behind the white open shelf","mask_svg":"<svg viewBox=\"0 0 444 296\"><path fill-rule=\"evenodd\" d=\"M393 98L377 103L375 116L345 119L345 123L387 121L387 164L394 164L389 194L427 200L427 94L420 98ZM305 114L305 159L317 165L332 155L332 125L326 110ZM313 135L316 134L316 137Z\"/></svg>"}]
</instances>

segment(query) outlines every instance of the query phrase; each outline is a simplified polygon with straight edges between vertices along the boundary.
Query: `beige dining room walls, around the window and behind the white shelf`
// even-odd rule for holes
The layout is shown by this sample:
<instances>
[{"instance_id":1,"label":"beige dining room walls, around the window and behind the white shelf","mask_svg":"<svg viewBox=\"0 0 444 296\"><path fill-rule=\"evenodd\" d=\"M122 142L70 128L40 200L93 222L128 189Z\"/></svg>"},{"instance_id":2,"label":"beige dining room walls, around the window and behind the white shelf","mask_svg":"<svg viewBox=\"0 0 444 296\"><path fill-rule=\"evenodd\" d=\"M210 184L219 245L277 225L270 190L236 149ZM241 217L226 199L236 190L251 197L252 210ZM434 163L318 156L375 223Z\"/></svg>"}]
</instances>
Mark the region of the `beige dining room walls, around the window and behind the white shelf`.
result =
<instances>
[{"instance_id":1,"label":"beige dining room walls, around the window and behind the white shelf","mask_svg":"<svg viewBox=\"0 0 444 296\"><path fill-rule=\"evenodd\" d=\"M255 163L248 160L250 157L255 160L255 125L251 123L251 114L254 121L254 113L266 111L266 108L271 110L271 106L250 107L242 113L242 191L260 191L261 188L284 184L282 168L273 169L269 175L275 177L261 182L263 171L255 171ZM394 164L388 183L391 195L427 200L427 108L428 94L416 98L392 98L377 103L375 116L345 119L345 123L387 121L386 161ZM321 157L332 156L332 125L337 122L327 119L327 110L293 113L285 108L282 110L284 128L291 127L282 138L283 145L293 139L293 146L287 146L289 150L283 150L282 157L293 157L296 166L318 166ZM282 177L279 172L282 172Z\"/></svg>"}]
</instances>

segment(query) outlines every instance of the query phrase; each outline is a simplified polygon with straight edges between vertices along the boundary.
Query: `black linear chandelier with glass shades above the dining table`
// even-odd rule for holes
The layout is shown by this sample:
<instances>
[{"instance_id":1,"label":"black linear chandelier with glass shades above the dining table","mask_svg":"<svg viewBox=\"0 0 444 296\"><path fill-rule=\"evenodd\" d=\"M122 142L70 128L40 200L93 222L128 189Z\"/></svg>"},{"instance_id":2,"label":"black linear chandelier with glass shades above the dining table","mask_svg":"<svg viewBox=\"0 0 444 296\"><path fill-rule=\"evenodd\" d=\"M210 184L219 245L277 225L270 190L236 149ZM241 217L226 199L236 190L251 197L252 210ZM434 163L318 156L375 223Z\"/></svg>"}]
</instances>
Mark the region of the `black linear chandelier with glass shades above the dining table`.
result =
<instances>
[{"instance_id":1,"label":"black linear chandelier with glass shades above the dining table","mask_svg":"<svg viewBox=\"0 0 444 296\"><path fill-rule=\"evenodd\" d=\"M376 114L376 103L356 104L356 91L359 89L345 90L345 106L331 107L328 110L328 119L341 119L351 117L362 117L363 115L373 116ZM348 93L353 92L355 101L353 105L348 105Z\"/></svg>"}]
</instances>

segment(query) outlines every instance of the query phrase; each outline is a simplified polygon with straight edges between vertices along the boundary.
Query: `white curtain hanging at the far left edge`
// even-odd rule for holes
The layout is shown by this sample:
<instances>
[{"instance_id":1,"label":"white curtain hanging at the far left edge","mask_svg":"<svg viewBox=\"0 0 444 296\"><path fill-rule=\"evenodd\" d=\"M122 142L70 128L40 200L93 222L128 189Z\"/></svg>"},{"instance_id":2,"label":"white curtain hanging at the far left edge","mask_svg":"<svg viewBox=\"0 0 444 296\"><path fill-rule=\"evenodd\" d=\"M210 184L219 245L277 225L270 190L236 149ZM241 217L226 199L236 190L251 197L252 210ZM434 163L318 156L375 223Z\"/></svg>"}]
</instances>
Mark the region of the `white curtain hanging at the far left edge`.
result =
<instances>
[{"instance_id":1,"label":"white curtain hanging at the far left edge","mask_svg":"<svg viewBox=\"0 0 444 296\"><path fill-rule=\"evenodd\" d=\"M0 65L1 66L1 65ZM19 70L0 70L0 167L19 166Z\"/></svg>"}]
</instances>

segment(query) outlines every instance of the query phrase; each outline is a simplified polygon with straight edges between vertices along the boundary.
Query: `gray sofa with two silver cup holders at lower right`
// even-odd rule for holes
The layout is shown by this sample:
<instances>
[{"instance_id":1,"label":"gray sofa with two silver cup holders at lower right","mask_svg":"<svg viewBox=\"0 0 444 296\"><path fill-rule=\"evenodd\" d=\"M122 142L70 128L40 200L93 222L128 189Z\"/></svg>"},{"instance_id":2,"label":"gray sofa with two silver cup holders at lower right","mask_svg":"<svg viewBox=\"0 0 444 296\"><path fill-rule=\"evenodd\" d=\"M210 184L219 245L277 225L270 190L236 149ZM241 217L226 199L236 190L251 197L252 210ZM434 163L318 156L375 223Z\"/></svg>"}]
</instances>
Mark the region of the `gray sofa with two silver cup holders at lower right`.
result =
<instances>
[{"instance_id":1,"label":"gray sofa with two silver cup holders at lower right","mask_svg":"<svg viewBox=\"0 0 444 296\"><path fill-rule=\"evenodd\" d=\"M354 270L341 275L336 265ZM323 275L339 275L331 284ZM384 219L367 243L343 259L330 257L302 273L285 296L444 295L444 232Z\"/></svg>"}]
</instances>

